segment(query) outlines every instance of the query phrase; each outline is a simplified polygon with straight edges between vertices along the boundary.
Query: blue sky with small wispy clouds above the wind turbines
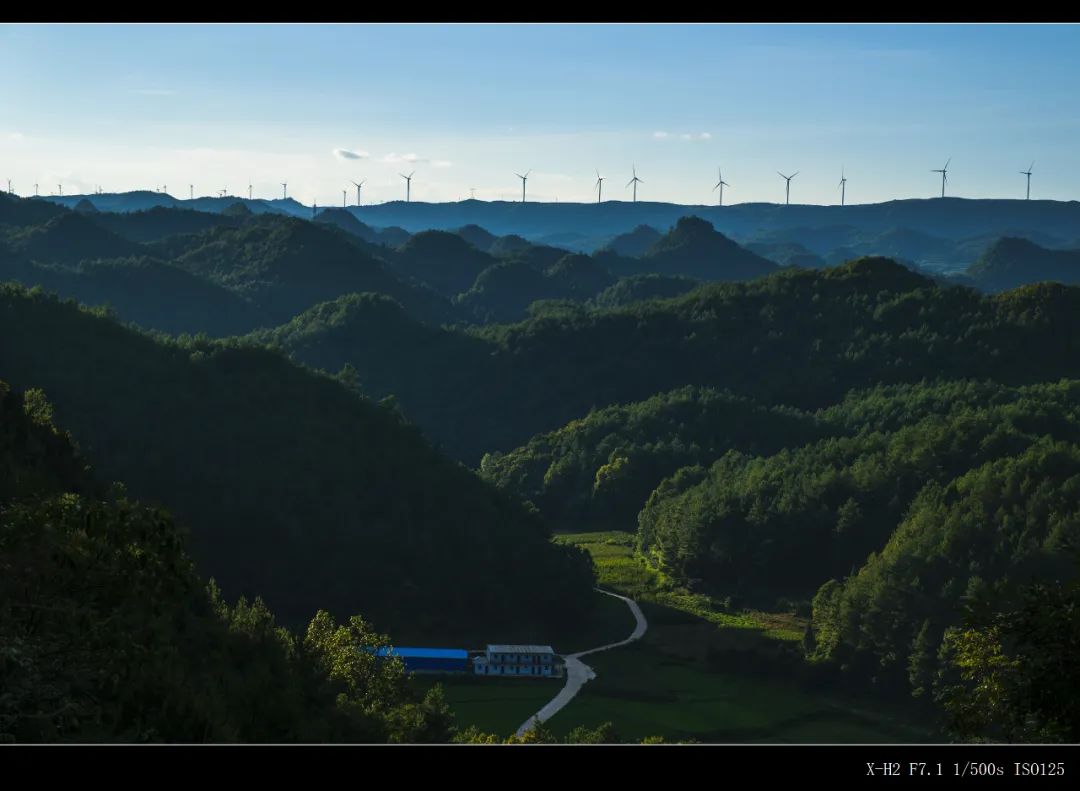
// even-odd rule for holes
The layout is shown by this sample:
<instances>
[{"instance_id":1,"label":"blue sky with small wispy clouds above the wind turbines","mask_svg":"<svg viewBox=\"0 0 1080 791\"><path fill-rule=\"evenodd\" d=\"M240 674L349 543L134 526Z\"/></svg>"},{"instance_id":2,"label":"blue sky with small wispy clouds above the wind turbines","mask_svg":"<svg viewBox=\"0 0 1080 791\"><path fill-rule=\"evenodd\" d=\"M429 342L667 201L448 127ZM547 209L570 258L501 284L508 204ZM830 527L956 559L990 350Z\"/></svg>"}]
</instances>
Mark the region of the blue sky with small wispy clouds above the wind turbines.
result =
<instances>
[{"instance_id":1,"label":"blue sky with small wispy clouds above the wind turbines","mask_svg":"<svg viewBox=\"0 0 1080 791\"><path fill-rule=\"evenodd\" d=\"M0 188L1080 198L1077 25L0 25Z\"/></svg>"}]
</instances>

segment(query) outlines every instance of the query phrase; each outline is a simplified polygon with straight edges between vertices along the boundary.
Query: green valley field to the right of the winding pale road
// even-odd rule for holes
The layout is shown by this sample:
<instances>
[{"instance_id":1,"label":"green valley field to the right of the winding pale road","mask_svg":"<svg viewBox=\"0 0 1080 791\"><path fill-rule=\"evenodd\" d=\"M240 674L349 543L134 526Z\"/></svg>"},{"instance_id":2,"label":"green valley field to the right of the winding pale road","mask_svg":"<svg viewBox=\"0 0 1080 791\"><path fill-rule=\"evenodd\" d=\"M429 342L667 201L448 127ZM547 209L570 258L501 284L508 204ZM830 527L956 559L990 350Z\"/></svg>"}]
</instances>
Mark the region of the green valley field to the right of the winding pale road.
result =
<instances>
[{"instance_id":1,"label":"green valley field to the right of the winding pale road","mask_svg":"<svg viewBox=\"0 0 1080 791\"><path fill-rule=\"evenodd\" d=\"M852 701L770 673L769 667L798 660L805 618L728 612L707 595L679 589L634 557L630 533L565 534L556 540L589 550L600 587L635 599L649 621L639 643L586 659L597 678L548 723L556 735L578 725L612 722L622 738L634 740L663 736L833 743L933 738L926 727L912 724L907 709L878 707L868 714Z\"/></svg>"}]
</instances>

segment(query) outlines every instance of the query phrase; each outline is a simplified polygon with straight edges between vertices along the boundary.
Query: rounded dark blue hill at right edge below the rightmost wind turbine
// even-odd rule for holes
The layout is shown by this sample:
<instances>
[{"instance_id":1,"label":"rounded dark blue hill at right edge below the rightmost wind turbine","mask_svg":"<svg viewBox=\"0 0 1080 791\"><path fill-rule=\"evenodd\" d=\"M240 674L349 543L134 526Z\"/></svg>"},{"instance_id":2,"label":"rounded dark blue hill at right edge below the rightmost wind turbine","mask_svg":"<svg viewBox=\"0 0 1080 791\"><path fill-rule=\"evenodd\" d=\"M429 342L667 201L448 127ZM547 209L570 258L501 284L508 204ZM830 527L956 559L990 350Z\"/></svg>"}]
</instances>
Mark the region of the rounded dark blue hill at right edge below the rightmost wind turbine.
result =
<instances>
[{"instance_id":1,"label":"rounded dark blue hill at right edge below the rightmost wind turbine","mask_svg":"<svg viewBox=\"0 0 1080 791\"><path fill-rule=\"evenodd\" d=\"M999 239L964 276L985 291L1007 291L1026 283L1080 284L1080 250L1047 250L1026 239Z\"/></svg>"}]
</instances>

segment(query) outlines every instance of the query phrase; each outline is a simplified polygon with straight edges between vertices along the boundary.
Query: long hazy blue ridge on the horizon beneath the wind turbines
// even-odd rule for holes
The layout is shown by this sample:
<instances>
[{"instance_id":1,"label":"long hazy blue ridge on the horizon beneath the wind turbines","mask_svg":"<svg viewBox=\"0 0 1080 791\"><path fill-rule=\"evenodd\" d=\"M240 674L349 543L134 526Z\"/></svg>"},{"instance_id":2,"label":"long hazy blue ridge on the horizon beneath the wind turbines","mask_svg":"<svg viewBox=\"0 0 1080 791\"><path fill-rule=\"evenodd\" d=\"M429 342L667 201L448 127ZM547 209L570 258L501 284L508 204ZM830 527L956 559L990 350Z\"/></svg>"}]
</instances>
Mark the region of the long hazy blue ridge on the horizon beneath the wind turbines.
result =
<instances>
[{"instance_id":1,"label":"long hazy blue ridge on the horizon beneath the wind turbines","mask_svg":"<svg viewBox=\"0 0 1080 791\"><path fill-rule=\"evenodd\" d=\"M129 212L156 205L220 212L244 200L252 212L274 212L309 219L311 207L296 200L195 198L180 200L161 192L126 192L95 196L41 198L71 207L90 198L103 212ZM495 236L516 233L526 239L566 249L589 250L585 240L610 239L639 225L669 228L679 217L696 215L708 220L725 236L739 241L797 241L818 255L846 245L848 240L829 240L824 229L854 229L859 233L881 233L907 228L920 233L961 241L984 233L1023 236L1039 240L1047 234L1062 240L1080 239L1080 203L1076 201L1024 201L963 198L905 199L885 203L837 205L780 205L739 203L727 206L681 205L638 201L604 203L521 203L467 200L451 203L391 201L348 210L373 228L396 226L408 232L455 230L468 225L485 228ZM821 237L811 238L808 232ZM777 238L768 238L779 234ZM834 234L835 237L836 234ZM566 240L565 242L559 239ZM1040 242L1041 243L1041 242ZM603 244L603 241L600 242ZM909 256L906 256L909 257Z\"/></svg>"}]
</instances>

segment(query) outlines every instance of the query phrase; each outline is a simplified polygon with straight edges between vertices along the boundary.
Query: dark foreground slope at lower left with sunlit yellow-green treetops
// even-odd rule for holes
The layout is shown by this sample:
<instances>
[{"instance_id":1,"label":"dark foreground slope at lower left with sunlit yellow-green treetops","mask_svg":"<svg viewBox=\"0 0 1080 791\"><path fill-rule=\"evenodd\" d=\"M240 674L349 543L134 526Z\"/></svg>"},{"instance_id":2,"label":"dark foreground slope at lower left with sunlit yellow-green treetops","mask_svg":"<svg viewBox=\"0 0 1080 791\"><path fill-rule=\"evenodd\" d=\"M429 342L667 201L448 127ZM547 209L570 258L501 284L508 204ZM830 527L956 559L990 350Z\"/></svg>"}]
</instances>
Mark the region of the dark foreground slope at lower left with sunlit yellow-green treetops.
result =
<instances>
[{"instance_id":1,"label":"dark foreground slope at lower left with sunlit yellow-green treetops","mask_svg":"<svg viewBox=\"0 0 1080 791\"><path fill-rule=\"evenodd\" d=\"M40 390L0 381L0 741L445 741L389 639L306 634L199 578L167 512L105 486Z\"/></svg>"}]
</instances>

